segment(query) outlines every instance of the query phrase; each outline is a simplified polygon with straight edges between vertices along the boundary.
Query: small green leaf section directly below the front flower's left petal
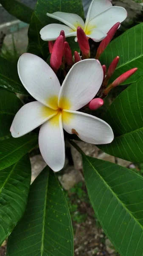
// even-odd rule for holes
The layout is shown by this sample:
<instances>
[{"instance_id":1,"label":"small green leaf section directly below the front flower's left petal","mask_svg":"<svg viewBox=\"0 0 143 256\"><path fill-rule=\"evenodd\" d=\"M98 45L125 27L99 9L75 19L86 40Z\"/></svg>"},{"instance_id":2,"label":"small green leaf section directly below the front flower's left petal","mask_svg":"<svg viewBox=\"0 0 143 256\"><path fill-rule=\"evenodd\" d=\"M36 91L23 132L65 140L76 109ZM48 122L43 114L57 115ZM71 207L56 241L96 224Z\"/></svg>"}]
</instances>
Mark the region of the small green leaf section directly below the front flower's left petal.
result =
<instances>
[{"instance_id":1,"label":"small green leaf section directly below the front flower's left petal","mask_svg":"<svg viewBox=\"0 0 143 256\"><path fill-rule=\"evenodd\" d=\"M17 162L37 144L37 136L25 135L0 142L0 170Z\"/></svg>"}]
</instances>

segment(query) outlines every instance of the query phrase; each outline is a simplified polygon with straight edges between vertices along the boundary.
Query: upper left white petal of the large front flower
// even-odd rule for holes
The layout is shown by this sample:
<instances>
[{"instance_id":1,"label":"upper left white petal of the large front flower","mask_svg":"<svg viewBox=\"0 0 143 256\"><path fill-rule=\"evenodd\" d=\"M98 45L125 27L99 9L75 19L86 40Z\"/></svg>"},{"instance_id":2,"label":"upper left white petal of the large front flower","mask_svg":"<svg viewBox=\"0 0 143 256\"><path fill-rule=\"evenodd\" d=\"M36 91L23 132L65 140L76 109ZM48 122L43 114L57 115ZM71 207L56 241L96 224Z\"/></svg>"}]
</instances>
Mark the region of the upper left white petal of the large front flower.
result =
<instances>
[{"instance_id":1,"label":"upper left white petal of the large front flower","mask_svg":"<svg viewBox=\"0 0 143 256\"><path fill-rule=\"evenodd\" d=\"M18 74L31 96L50 108L58 108L61 86L56 74L42 58L31 53L23 54L18 61Z\"/></svg>"}]
</instances>

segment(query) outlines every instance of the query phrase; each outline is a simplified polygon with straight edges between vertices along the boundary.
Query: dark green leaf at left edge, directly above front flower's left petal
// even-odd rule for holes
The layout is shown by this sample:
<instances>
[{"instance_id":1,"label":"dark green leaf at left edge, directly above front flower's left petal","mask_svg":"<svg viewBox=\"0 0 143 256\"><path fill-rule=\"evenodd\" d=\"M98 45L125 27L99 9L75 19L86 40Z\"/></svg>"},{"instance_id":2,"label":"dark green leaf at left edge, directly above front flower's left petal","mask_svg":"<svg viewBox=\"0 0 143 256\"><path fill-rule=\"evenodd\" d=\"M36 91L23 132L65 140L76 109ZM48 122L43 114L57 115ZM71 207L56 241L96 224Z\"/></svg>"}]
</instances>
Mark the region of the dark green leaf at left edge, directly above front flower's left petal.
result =
<instances>
[{"instance_id":1,"label":"dark green leaf at left edge, directly above front flower's left petal","mask_svg":"<svg viewBox=\"0 0 143 256\"><path fill-rule=\"evenodd\" d=\"M22 102L14 93L0 88L0 140L10 134L11 123L21 107Z\"/></svg>"}]
</instances>

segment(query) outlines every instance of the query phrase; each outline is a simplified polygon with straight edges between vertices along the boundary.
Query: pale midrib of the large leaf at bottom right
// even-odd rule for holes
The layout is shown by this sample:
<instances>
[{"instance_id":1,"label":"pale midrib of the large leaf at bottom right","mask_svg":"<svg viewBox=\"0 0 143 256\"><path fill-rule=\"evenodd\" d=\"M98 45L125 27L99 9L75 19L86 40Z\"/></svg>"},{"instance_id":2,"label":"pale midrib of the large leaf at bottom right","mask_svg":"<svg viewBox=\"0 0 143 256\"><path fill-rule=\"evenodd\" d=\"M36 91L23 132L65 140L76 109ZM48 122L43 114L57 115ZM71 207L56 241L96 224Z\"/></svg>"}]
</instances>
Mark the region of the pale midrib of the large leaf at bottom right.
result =
<instances>
[{"instance_id":1,"label":"pale midrib of the large leaf at bottom right","mask_svg":"<svg viewBox=\"0 0 143 256\"><path fill-rule=\"evenodd\" d=\"M85 154L83 154L83 156L87 159L88 163L90 163L90 161L88 160L87 156ZM92 163L90 163L90 166L92 166L93 170L96 172L96 174L101 178L101 180L104 182L105 186L107 186L107 188L112 192L112 194L115 196L115 198L117 198L117 200L119 201L119 203L121 203L121 205L123 206L124 209L126 209L126 211L129 213L129 215L135 220L135 222L137 222L137 224L140 225L141 229L143 230L143 226L140 224L140 222L134 217L134 215L132 215L132 213L128 210L128 208L126 208L126 206L122 203L122 201L118 198L118 196L116 195L116 193L112 190L112 188L106 183L106 181L104 180L104 178L98 173L98 171L94 168L94 166L92 165ZM93 202L92 198L90 197L91 201ZM93 204L94 205L94 204Z\"/></svg>"}]
</instances>

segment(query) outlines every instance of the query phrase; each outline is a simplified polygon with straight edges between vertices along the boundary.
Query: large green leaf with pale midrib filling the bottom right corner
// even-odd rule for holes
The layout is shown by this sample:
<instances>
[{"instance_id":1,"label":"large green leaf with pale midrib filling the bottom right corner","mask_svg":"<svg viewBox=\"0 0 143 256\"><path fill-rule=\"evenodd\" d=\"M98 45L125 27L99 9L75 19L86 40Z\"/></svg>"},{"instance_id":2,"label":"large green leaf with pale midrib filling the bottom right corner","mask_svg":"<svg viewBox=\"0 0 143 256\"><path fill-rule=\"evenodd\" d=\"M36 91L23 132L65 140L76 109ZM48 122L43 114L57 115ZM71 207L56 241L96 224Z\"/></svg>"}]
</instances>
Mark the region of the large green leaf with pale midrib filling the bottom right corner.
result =
<instances>
[{"instance_id":1,"label":"large green leaf with pale midrib filling the bottom right corner","mask_svg":"<svg viewBox=\"0 0 143 256\"><path fill-rule=\"evenodd\" d=\"M143 254L143 177L83 155L84 177L95 215L121 256Z\"/></svg>"}]
</instances>

